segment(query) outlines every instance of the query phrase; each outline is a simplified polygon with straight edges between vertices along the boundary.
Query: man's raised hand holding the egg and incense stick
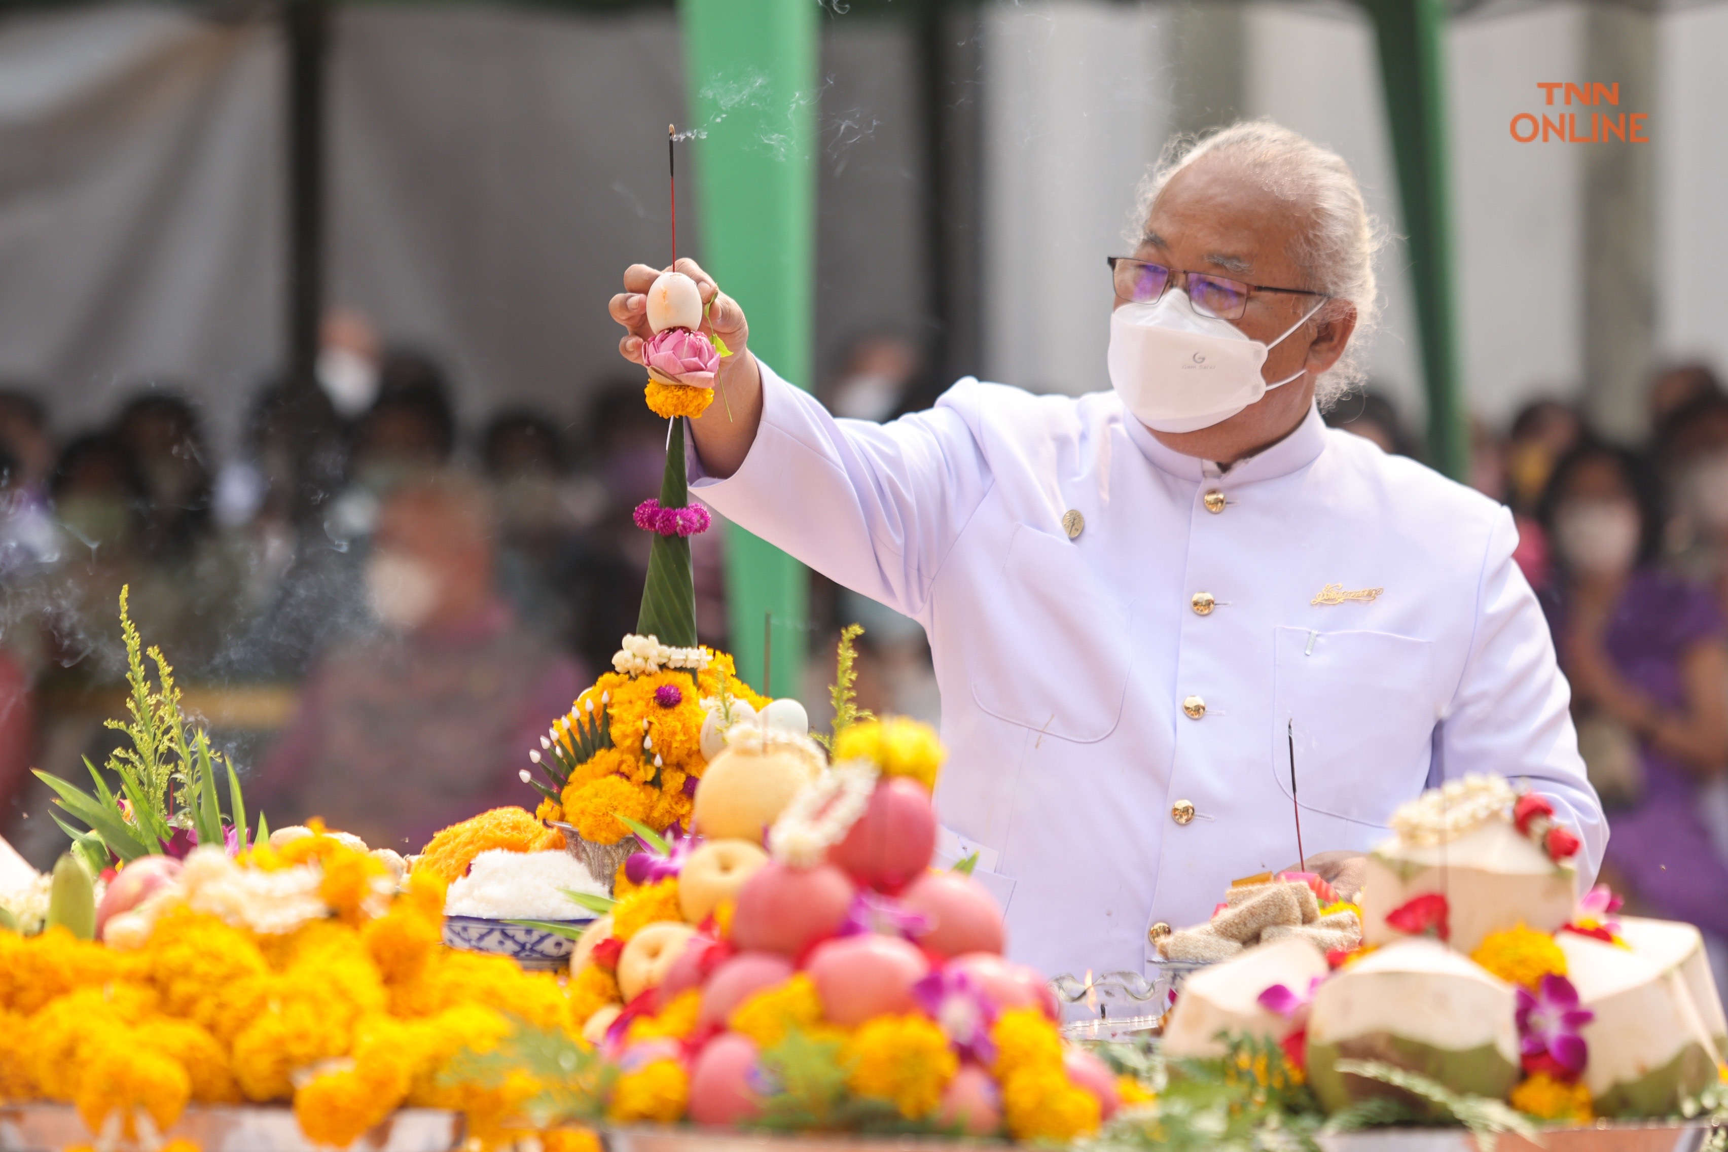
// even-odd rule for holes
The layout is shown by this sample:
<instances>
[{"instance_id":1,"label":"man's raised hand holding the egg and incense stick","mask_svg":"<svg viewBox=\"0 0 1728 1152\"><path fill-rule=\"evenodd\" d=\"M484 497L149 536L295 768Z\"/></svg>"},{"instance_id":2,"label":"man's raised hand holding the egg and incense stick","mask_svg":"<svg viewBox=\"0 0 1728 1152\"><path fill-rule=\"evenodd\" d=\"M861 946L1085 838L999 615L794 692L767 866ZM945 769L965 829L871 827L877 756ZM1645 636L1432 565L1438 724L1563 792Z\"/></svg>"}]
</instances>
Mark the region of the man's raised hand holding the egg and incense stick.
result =
<instances>
[{"instance_id":1,"label":"man's raised hand holding the egg and incense stick","mask_svg":"<svg viewBox=\"0 0 1728 1152\"><path fill-rule=\"evenodd\" d=\"M619 356L632 364L648 363L643 352L643 345L653 339L653 328L648 326L648 288L662 271L681 271L696 282L707 313L702 332L710 340L719 337L727 351L714 382L721 396L714 397L715 402L702 418L689 421L702 466L710 475L726 478L745 463L762 421L762 373L748 349L750 323L738 301L721 292L714 276L693 259L681 259L672 269L631 264L624 269L624 292L612 297L608 311L626 328Z\"/></svg>"}]
</instances>

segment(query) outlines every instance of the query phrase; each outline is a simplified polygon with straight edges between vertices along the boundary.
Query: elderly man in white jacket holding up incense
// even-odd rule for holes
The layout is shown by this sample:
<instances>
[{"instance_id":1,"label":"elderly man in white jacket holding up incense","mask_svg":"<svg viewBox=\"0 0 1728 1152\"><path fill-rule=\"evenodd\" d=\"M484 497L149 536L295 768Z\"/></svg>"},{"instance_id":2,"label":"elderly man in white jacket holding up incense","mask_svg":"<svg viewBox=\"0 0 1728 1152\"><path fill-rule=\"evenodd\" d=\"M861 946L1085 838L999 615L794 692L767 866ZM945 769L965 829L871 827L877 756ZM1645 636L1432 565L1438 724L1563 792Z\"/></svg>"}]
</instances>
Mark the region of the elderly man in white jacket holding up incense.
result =
<instances>
[{"instance_id":1,"label":"elderly man in white jacket holding up incense","mask_svg":"<svg viewBox=\"0 0 1728 1152\"><path fill-rule=\"evenodd\" d=\"M1113 392L968 378L886 427L755 361L686 266L734 351L691 487L924 625L943 846L980 853L1020 960L1139 969L1234 877L1296 862L1293 788L1303 846L1350 884L1424 786L1528 777L1588 883L1607 832L1512 516L1320 420L1375 311L1350 168L1236 124L1146 200L1111 261ZM655 275L612 301L638 363Z\"/></svg>"}]
</instances>

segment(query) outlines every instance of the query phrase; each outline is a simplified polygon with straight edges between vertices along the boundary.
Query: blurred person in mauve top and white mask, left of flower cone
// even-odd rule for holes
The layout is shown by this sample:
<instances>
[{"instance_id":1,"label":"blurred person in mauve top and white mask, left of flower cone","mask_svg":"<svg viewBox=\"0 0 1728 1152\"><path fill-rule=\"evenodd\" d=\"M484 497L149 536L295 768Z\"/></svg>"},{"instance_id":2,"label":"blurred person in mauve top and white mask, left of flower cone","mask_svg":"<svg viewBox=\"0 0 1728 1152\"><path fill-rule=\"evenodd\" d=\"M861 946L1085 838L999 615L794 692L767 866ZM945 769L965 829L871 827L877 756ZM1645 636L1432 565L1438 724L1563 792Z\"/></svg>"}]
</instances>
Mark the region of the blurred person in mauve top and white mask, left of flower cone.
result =
<instances>
[{"instance_id":1,"label":"blurred person in mauve top and white mask, left of flower cone","mask_svg":"<svg viewBox=\"0 0 1728 1152\"><path fill-rule=\"evenodd\" d=\"M496 594L496 542L492 503L467 477L385 494L365 568L377 629L308 677L249 788L273 817L418 850L482 808L532 803L517 772L586 675Z\"/></svg>"}]
</instances>

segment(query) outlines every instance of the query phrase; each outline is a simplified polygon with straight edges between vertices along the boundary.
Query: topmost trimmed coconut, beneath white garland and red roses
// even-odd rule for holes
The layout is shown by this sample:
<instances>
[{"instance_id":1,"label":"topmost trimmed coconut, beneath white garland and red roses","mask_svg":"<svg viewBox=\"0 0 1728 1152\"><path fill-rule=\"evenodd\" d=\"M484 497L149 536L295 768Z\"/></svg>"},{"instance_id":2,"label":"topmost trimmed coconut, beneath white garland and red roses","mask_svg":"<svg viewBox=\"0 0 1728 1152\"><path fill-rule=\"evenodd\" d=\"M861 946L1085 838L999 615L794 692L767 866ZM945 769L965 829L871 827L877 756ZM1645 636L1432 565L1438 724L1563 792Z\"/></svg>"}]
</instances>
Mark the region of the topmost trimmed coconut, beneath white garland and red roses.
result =
<instances>
[{"instance_id":1,"label":"topmost trimmed coconut, beneath white garland and red roses","mask_svg":"<svg viewBox=\"0 0 1728 1152\"><path fill-rule=\"evenodd\" d=\"M1407 940L1386 915L1412 896L1443 893L1452 946L1471 953L1488 933L1517 924L1552 933L1572 919L1578 872L1555 864L1512 820L1493 817L1443 845L1393 838L1369 853L1362 884L1362 938L1370 945Z\"/></svg>"}]
</instances>

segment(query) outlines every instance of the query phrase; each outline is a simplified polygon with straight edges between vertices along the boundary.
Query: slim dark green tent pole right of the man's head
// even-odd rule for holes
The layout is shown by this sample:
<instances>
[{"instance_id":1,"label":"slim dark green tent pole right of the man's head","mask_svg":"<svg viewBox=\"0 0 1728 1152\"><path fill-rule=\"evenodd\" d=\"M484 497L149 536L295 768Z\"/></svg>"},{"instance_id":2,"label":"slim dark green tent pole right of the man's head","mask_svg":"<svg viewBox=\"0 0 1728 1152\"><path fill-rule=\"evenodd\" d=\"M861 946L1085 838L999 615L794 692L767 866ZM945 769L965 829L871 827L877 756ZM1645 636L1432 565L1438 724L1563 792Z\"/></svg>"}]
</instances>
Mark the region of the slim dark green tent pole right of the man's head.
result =
<instances>
[{"instance_id":1,"label":"slim dark green tent pole right of the man's head","mask_svg":"<svg viewBox=\"0 0 1728 1152\"><path fill-rule=\"evenodd\" d=\"M1455 480L1471 468L1453 311L1452 197L1446 190L1445 0L1363 0L1381 43L1403 225L1410 237L1427 385L1429 463Z\"/></svg>"}]
</instances>

